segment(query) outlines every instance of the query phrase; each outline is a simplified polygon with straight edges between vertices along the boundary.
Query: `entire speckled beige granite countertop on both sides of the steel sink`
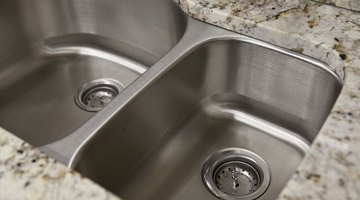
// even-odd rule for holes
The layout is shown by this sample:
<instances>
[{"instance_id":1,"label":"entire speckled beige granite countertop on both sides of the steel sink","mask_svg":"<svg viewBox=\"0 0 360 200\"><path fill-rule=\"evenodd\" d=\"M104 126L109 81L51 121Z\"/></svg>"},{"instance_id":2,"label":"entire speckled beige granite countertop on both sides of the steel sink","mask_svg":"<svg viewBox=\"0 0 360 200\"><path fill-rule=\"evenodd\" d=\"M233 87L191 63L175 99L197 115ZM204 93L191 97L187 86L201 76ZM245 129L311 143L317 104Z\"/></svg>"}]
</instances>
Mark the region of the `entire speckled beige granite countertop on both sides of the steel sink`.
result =
<instances>
[{"instance_id":1,"label":"entire speckled beige granite countertop on both sides of the steel sink","mask_svg":"<svg viewBox=\"0 0 360 200\"><path fill-rule=\"evenodd\" d=\"M305 0L179 5L199 20L319 59L344 80L329 118L279 199L360 199L360 13ZM0 149L1 200L119 199L1 128Z\"/></svg>"}]
</instances>

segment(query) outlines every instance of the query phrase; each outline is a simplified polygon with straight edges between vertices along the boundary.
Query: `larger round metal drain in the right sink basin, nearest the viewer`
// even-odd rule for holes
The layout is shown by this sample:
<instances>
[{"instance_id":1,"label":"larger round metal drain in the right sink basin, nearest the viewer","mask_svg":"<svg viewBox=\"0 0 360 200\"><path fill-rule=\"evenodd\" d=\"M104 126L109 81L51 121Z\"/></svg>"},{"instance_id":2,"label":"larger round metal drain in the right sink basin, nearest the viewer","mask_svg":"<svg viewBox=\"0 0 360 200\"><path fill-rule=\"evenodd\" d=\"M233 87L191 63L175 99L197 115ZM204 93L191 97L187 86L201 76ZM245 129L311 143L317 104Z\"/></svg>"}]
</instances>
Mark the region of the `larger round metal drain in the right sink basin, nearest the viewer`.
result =
<instances>
[{"instance_id":1,"label":"larger round metal drain in the right sink basin, nearest the viewer","mask_svg":"<svg viewBox=\"0 0 360 200\"><path fill-rule=\"evenodd\" d=\"M214 153L204 164L203 181L220 199L252 200L270 184L269 168L257 154L240 148Z\"/></svg>"}]
</instances>

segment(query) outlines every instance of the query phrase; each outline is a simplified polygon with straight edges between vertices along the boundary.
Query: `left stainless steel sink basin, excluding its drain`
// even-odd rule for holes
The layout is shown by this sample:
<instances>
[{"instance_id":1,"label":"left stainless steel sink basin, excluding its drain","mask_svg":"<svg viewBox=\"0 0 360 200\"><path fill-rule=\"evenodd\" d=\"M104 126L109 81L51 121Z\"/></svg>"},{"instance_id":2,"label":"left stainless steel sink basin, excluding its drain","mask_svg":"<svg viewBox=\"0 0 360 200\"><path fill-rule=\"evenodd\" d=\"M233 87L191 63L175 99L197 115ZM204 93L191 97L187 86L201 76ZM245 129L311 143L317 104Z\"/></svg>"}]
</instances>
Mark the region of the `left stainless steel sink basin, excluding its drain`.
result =
<instances>
[{"instance_id":1,"label":"left stainless steel sink basin, excluding its drain","mask_svg":"<svg viewBox=\"0 0 360 200\"><path fill-rule=\"evenodd\" d=\"M95 114L75 103L84 84L108 78L120 93L175 46L186 19L166 0L2 1L0 126L34 146L69 135Z\"/></svg>"}]
</instances>

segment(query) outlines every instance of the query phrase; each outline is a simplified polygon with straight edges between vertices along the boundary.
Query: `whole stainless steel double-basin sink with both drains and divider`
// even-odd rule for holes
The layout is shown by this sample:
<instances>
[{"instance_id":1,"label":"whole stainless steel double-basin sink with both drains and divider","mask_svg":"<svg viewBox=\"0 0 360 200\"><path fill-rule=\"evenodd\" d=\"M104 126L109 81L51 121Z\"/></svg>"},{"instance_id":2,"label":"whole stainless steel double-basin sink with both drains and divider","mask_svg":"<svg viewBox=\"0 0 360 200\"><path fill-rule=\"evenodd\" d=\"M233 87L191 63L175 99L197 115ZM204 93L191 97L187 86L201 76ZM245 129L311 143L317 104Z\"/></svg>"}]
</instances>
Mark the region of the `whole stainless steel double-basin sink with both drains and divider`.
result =
<instances>
[{"instance_id":1,"label":"whole stainless steel double-basin sink with both drains and divider","mask_svg":"<svg viewBox=\"0 0 360 200\"><path fill-rule=\"evenodd\" d=\"M0 4L0 126L125 200L275 199L342 88L172 0Z\"/></svg>"}]
</instances>

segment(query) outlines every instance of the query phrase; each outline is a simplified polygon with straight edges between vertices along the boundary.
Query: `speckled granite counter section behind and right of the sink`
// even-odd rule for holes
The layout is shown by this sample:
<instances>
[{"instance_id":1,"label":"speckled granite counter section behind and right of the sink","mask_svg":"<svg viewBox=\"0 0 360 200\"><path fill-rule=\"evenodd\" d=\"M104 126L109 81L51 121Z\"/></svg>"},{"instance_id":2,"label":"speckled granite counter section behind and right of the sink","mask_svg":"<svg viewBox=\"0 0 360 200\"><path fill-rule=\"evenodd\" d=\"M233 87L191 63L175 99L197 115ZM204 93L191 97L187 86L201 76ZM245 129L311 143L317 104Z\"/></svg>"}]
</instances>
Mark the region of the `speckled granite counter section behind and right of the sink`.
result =
<instances>
[{"instance_id":1,"label":"speckled granite counter section behind and right of the sink","mask_svg":"<svg viewBox=\"0 0 360 200\"><path fill-rule=\"evenodd\" d=\"M330 117L279 199L360 199L360 14L300 0L179 5L194 18L324 61L344 80Z\"/></svg>"}]
</instances>

